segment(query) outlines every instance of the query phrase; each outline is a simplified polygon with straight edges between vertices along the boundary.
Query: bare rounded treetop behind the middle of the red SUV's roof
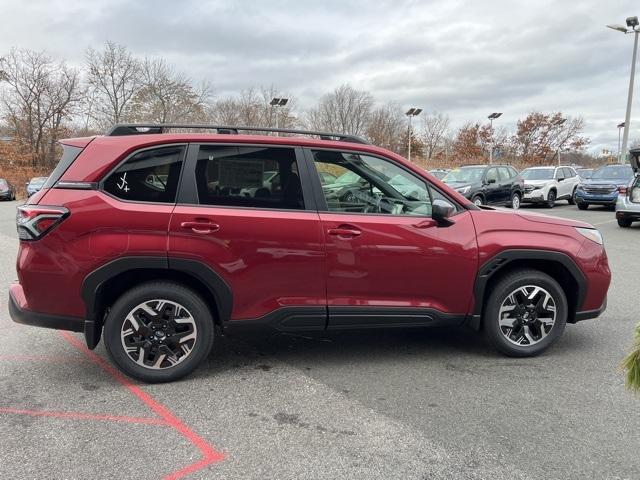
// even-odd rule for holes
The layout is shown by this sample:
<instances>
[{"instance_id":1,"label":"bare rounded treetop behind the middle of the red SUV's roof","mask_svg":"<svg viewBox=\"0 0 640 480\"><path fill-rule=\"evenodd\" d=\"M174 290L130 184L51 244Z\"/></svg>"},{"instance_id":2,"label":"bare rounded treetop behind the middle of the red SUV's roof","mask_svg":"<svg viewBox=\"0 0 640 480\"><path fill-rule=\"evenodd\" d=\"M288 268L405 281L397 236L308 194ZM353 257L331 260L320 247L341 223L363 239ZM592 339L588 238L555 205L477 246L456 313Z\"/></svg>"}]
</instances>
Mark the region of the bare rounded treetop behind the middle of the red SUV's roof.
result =
<instances>
[{"instance_id":1,"label":"bare rounded treetop behind the middle of the red SUV's roof","mask_svg":"<svg viewBox=\"0 0 640 480\"><path fill-rule=\"evenodd\" d=\"M369 92L345 84L324 95L318 106L309 111L307 122L317 130L363 135L372 108L373 97Z\"/></svg>"}]
</instances>

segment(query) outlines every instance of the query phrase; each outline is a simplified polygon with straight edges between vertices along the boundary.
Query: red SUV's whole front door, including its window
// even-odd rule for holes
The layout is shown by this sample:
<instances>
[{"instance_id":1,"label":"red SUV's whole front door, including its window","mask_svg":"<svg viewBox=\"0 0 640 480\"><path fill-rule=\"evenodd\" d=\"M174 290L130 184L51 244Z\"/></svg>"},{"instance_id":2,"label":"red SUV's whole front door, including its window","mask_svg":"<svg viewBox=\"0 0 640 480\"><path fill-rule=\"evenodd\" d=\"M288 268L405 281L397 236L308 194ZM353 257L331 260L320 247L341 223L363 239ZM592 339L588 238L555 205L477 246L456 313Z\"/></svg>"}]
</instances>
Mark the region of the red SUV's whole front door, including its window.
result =
<instances>
[{"instance_id":1,"label":"red SUV's whole front door, including its window","mask_svg":"<svg viewBox=\"0 0 640 480\"><path fill-rule=\"evenodd\" d=\"M329 327L464 318L478 262L470 214L457 207L439 227L431 205L447 199L415 173L368 154L307 153L325 203ZM321 185L323 173L337 178Z\"/></svg>"}]
</instances>

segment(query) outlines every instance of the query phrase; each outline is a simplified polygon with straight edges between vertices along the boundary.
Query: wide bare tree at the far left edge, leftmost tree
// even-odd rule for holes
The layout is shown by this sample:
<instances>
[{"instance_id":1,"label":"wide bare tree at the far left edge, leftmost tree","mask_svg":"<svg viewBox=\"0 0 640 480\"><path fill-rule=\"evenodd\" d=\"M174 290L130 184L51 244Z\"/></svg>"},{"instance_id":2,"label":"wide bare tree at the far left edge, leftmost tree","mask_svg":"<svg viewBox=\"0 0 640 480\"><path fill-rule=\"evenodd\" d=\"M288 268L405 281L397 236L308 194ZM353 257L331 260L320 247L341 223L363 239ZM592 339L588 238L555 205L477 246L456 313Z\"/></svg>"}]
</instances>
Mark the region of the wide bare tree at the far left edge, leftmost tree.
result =
<instances>
[{"instance_id":1,"label":"wide bare tree at the far left edge, leftmost tree","mask_svg":"<svg viewBox=\"0 0 640 480\"><path fill-rule=\"evenodd\" d=\"M32 164L54 161L63 122L82 98L78 72L41 52L16 50L0 60L4 118Z\"/></svg>"}]
</instances>

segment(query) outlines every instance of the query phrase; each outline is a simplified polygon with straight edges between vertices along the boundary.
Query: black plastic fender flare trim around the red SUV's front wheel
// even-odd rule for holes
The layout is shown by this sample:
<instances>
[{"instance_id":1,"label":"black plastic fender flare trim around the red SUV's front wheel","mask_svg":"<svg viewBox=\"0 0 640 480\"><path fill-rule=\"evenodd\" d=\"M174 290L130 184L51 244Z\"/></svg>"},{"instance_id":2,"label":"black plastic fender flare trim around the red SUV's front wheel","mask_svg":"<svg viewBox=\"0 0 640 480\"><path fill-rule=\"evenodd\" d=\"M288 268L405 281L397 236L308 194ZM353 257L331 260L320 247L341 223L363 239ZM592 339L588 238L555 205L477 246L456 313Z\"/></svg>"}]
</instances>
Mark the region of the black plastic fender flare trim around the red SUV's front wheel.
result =
<instances>
[{"instance_id":1,"label":"black plastic fender flare trim around the red SUV's front wheel","mask_svg":"<svg viewBox=\"0 0 640 480\"><path fill-rule=\"evenodd\" d=\"M587 294L587 280L582 270L580 270L580 267L576 265L576 262L569 255L551 250L503 250L487 260L476 274L473 312L467 322L471 328L475 330L480 328L483 300L489 280L516 260L544 260L555 262L565 267L578 285L578 291L576 292L576 311L580 311L580 307L584 303L584 298Z\"/></svg>"}]
</instances>

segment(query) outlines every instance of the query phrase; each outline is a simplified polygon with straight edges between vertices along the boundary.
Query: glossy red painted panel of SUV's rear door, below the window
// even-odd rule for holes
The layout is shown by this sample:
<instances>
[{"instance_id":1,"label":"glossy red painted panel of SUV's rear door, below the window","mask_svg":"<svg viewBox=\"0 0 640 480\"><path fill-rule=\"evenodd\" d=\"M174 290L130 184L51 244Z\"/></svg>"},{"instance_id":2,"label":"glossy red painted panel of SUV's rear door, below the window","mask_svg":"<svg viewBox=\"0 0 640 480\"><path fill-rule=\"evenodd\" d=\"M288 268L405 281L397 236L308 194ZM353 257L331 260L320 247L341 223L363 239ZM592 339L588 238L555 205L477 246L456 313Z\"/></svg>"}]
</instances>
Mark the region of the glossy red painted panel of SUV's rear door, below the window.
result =
<instances>
[{"instance_id":1,"label":"glossy red painted panel of SUV's rear door, below the window","mask_svg":"<svg viewBox=\"0 0 640 480\"><path fill-rule=\"evenodd\" d=\"M317 212L178 205L170 232L171 257L202 261L231 287L234 320L326 304Z\"/></svg>"}]
</instances>

